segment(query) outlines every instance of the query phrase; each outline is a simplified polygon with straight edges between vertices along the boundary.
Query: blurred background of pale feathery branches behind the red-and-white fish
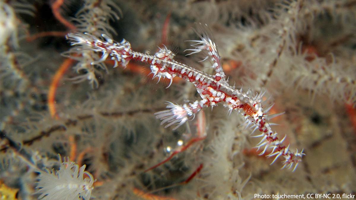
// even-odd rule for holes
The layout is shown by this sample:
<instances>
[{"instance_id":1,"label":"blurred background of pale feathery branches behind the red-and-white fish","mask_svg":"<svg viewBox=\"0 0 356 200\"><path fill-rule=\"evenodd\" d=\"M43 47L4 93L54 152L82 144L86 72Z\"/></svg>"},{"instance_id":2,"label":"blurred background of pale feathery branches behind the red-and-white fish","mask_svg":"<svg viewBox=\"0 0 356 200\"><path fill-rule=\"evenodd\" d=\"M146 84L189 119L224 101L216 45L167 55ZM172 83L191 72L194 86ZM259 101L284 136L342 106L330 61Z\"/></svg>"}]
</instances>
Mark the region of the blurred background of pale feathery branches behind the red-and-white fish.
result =
<instances>
[{"instance_id":1,"label":"blurred background of pale feathery branches behind the red-and-white fish","mask_svg":"<svg viewBox=\"0 0 356 200\"><path fill-rule=\"evenodd\" d=\"M209 73L183 52L198 22L210 27L230 84L266 89L272 113L285 112L272 122L291 149L304 148L295 172L258 156L243 117L222 106L164 128L153 113L198 99L193 85L166 89L141 63L90 65L100 55L74 55L65 38L105 33L150 54L163 43ZM91 199L355 195L355 33L355 0L0 0L0 194L37 199L36 170L57 170L60 154L87 165ZM145 172L197 135L201 120L205 140Z\"/></svg>"}]
</instances>

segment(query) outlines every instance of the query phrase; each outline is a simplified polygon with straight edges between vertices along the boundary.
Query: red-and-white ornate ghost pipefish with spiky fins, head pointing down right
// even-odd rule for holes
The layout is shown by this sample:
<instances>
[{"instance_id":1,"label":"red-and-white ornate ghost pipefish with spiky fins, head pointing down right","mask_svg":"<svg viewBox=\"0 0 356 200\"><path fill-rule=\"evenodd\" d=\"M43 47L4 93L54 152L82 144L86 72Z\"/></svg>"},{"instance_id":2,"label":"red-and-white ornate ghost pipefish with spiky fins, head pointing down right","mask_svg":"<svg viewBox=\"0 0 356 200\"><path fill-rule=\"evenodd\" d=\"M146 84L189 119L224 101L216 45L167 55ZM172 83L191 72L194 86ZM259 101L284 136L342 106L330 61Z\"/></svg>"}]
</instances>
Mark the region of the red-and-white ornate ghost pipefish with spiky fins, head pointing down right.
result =
<instances>
[{"instance_id":1,"label":"red-and-white ornate ghost pipefish with spiky fins, head pointing down right","mask_svg":"<svg viewBox=\"0 0 356 200\"><path fill-rule=\"evenodd\" d=\"M206 74L177 62L174 60L175 55L167 47L159 48L155 55L149 55L133 51L130 43L125 40L116 43L104 34L102 37L105 40L91 36L88 33L69 33L67 39L72 40L72 45L78 46L74 51L91 50L101 52L101 58L91 64L98 64L106 59L111 59L115 61L114 67L118 65L118 62L121 62L121 65L126 67L130 60L137 60L150 65L153 78L157 77L158 80L161 78L170 79L169 86L172 84L174 77L180 77L193 83L201 97L200 101L183 105L168 102L168 110L155 113L156 117L162 120L161 124L166 123L165 127L176 125L174 127L176 129L187 120L192 119L204 107L222 104L229 109L230 113L232 111L241 113L245 117L247 126L254 127L253 132L256 130L260 132L254 137L262 137L261 142L257 144L257 148L263 148L261 155L268 148L271 148L272 152L267 157L274 157L272 163L277 158L283 157L282 168L293 168L294 166L293 170L295 170L302 160L303 150L301 152L290 151L289 146L283 144L283 139L279 140L277 133L272 131L271 125L273 123L269 123L269 119L276 115L268 115L268 111L272 106L268 106L267 109L263 108L262 96L264 93L253 95L250 90L244 92L242 89L236 89L227 83L216 45L207 30L209 29L206 25L199 25L199 30L195 32L198 33L200 40L192 40L191 42L195 42L195 44L192 44L194 49L187 49L187 51L193 51L189 54L207 52L208 56L204 60L210 58L213 63L211 67L216 72L215 75Z\"/></svg>"}]
</instances>

